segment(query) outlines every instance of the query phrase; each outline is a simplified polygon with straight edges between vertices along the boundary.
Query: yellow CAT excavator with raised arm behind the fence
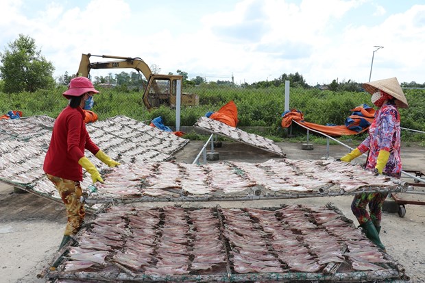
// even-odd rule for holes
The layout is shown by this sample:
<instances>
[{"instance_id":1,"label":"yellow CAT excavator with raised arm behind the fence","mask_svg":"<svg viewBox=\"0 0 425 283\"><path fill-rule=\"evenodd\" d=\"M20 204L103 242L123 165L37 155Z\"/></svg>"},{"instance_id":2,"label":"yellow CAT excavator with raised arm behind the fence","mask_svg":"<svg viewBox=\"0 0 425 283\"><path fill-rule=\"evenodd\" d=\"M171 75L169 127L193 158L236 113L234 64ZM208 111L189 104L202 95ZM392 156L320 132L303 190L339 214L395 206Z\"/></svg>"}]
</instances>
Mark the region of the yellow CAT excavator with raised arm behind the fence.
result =
<instances>
[{"instance_id":1,"label":"yellow CAT excavator with raised arm behind the fence","mask_svg":"<svg viewBox=\"0 0 425 283\"><path fill-rule=\"evenodd\" d=\"M90 57L101 57L115 59L106 62L90 62ZM77 77L88 77L91 69L135 69L139 74L142 73L147 80L146 88L143 93L143 103L147 110L158 108L160 105L175 107L175 98L177 93L177 81L182 83L181 75L160 75L151 72L151 69L141 58L130 58L122 56L93 55L82 54L80 67ZM181 84L182 86L182 84ZM182 93L180 103L186 106L199 105L199 96Z\"/></svg>"}]
</instances>

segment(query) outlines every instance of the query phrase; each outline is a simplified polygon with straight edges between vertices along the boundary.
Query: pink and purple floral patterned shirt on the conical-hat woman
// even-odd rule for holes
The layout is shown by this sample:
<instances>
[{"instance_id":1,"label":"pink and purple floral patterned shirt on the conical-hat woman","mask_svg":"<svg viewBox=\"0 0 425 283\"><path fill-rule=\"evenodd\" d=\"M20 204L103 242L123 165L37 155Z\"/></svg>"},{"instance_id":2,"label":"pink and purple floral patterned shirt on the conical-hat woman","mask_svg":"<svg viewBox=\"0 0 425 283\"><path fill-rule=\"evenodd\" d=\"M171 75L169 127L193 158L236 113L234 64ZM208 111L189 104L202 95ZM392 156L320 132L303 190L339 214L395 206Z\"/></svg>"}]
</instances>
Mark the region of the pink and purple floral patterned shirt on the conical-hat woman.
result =
<instances>
[{"instance_id":1,"label":"pink and purple floral patterned shirt on the conical-hat woman","mask_svg":"<svg viewBox=\"0 0 425 283\"><path fill-rule=\"evenodd\" d=\"M400 158L400 113L392 103L384 104L376 112L369 127L369 136L357 147L361 153L369 150L366 169L374 169L380 150L389 151L388 162L383 173L397 175L402 171Z\"/></svg>"}]
</instances>

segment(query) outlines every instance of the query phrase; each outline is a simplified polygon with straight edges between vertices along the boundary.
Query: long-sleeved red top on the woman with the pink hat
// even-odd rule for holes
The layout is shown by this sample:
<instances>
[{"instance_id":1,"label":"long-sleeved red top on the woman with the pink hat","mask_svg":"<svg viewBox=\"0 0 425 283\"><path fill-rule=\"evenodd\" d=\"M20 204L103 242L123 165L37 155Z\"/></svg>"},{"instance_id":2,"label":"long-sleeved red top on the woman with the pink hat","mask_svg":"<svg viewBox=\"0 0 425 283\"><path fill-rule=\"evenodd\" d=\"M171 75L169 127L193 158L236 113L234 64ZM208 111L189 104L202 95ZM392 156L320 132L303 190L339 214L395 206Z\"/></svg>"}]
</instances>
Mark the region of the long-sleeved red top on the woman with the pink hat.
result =
<instances>
[{"instance_id":1,"label":"long-sleeved red top on the woman with the pink hat","mask_svg":"<svg viewBox=\"0 0 425 283\"><path fill-rule=\"evenodd\" d=\"M88 136L82 108L67 106L55 121L42 169L56 177L82 181L83 170L78 160L84 156L84 149L93 154L99 151Z\"/></svg>"}]
</instances>

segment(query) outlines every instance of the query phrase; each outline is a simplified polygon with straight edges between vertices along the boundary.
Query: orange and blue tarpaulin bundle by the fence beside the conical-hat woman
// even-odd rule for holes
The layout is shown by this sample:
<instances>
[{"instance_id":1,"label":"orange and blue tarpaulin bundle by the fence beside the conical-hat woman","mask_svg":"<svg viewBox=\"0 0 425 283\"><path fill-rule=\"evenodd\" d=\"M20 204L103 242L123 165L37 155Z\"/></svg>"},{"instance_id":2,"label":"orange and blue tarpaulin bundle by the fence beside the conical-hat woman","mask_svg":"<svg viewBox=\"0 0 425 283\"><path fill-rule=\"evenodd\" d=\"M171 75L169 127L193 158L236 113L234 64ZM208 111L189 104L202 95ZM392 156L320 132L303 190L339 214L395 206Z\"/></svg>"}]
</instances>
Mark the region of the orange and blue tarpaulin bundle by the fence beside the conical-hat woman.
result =
<instances>
[{"instance_id":1,"label":"orange and blue tarpaulin bundle by the fence beside the conical-hat woman","mask_svg":"<svg viewBox=\"0 0 425 283\"><path fill-rule=\"evenodd\" d=\"M375 110L367 105L358 106L352 110L352 115L345 119L345 125L318 125L304 121L304 114L293 109L282 114L282 127L289 127L292 121L297 121L304 127L316 130L329 136L350 136L361 134L369 129L369 125L374 120Z\"/></svg>"}]
</instances>

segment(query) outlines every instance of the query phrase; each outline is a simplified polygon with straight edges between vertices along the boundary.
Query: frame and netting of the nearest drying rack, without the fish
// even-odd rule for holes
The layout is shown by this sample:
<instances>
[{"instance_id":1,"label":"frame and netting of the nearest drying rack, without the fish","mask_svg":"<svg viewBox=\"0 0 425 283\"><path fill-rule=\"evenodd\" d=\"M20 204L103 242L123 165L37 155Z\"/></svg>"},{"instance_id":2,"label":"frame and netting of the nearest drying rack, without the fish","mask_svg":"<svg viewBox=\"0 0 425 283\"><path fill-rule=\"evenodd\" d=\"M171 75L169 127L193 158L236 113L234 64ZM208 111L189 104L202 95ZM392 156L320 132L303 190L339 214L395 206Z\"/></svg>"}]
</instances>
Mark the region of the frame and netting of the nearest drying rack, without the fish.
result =
<instances>
[{"instance_id":1,"label":"frame and netting of the nearest drying rack, without the fish","mask_svg":"<svg viewBox=\"0 0 425 283\"><path fill-rule=\"evenodd\" d=\"M101 219L106 219L108 216L108 207L109 205L103 206L99 212L97 212L96 217L99 215L101 216ZM122 207L120 208L119 212L123 212L123 219L125 219L126 215L131 215L134 217L135 215L138 215L138 211L141 210L154 210L154 211L160 211L162 210L163 213L166 213L167 210L163 208L135 208L134 206L127 206L129 209L127 211L122 210ZM287 208L288 206L281 205L279 208L262 208L262 209L255 209L254 212L275 212L275 215L277 219L279 219L278 214L276 214L276 211L280 208ZM310 223L314 223L315 220L313 217L313 212L315 211L314 208L307 207L307 206L298 206L300 210L302 210L302 213L305 214L305 221L313 221ZM304 271L291 271L289 270L291 268L291 264L285 263L285 256L282 254L282 256L278 256L279 262L281 262L281 268L282 270L280 272L262 272L262 271L250 271L247 273L240 273L236 272L235 270L235 259L234 252L238 252L238 248L234 246L234 243L232 242L231 238L229 238L228 233L232 233L232 225L231 223L226 222L226 212L232 213L250 213L250 208L244 208L244 209L225 209L221 208L220 206L216 206L215 208L177 208L182 211L184 214L184 218L188 219L188 223L193 223L195 219L191 218L192 214L189 214L190 212L197 212L199 210L208 210L210 211L211 215L215 217L215 220L217 221L218 225L218 231L219 234L219 242L222 243L223 249L221 249L221 253L223 253L223 256L225 260L223 262L217 262L217 265L214 265L211 269L208 269L206 271L200 271L200 270L193 270L190 267L186 272L183 274L173 274L173 273L167 273L167 275L162 274L156 274L145 271L145 267L140 267L137 270L134 269L134 267L125 266L125 264L116 262L114 260L114 254L115 250L112 249L112 251L108 251L108 255L106 256L106 262L104 264L95 264L93 267L88 267L86 269L80 269L79 271L66 271L66 264L69 262L69 249L72 245L79 245L79 241L82 241L82 238L84 238L84 233L90 232L90 225L93 225L97 221L97 219L93 219L91 223L86 223L86 226L80 230L80 232L77 233L77 235L73 238L73 241L70 241L67 245L65 245L60 251L58 251L53 260L48 264L48 267L46 269L43 269L40 274L38 274L38 278L47 277L50 282L56 282L58 279L69 279L69 280L84 280L84 282L380 282L385 280L391 280L396 282L410 282L410 278L408 275L405 274L404 267L402 267L396 260L391 258L388 254L380 251L383 258L385 258L386 263L376 263L378 267L380 267L379 270L375 271L358 271L355 270L352 266L352 262L350 258L345 258L344 262L329 262L327 264L324 264L319 270L317 271L311 271L311 272L304 272ZM237 210L237 211L236 211ZM352 221L350 219L347 219L343 216L342 212L338 210L335 206L332 206L332 204L328 204L323 211L329 211L329 212L335 212L339 216L335 219L340 219L343 223L346 223L347 227L351 227L352 231L357 230L356 227L354 227ZM279 212L278 212L279 213ZM284 212L283 212L284 213ZM113 211L112 215L115 217L117 216L117 211ZM143 214L145 215L145 214ZM180 214L173 214L178 215L175 216L175 218L179 218ZM258 231L267 230L267 224L265 225L262 222L262 214L256 214L254 218L252 218L251 215L251 221L252 225L255 228L255 230L258 229ZM254 214L255 215L255 214ZM163 218L161 218L163 219ZM161 225L165 225L167 223L167 218L165 220L158 222L159 226L156 226L156 229L161 229ZM283 218L284 219L284 218ZM310 220L308 220L310 219ZM127 222L127 221L125 221ZM132 220L130 219L130 222L128 222L127 225L130 225L131 227ZM260 224L258 224L260 223ZM283 223L283 222L282 222ZM125 230L127 229L127 225L125 227ZM182 224L184 225L184 224ZM192 224L191 224L192 225ZM237 224L236 224L237 225ZM282 224L287 225L287 224ZM324 231L322 230L322 227L320 226L322 224L317 223L317 231ZM300 233L300 236L303 235L302 229L299 229L297 226L291 227L291 225L287 226L287 231L294 231L294 236L296 234ZM298 231L298 232L297 232ZM191 238L191 234L196 234L196 230L191 230L187 237ZM243 232L241 232L243 233ZM263 232L261 232L263 233ZM332 232L330 232L332 236ZM154 242L156 245L161 243L160 238L162 237L162 234L156 234L157 238L154 239ZM247 237L247 241L250 241L250 233L247 233L245 237ZM131 236L131 234L130 234ZM267 238L267 236L265 236ZM346 251L348 251L348 247L345 246L345 242L343 238L339 238L339 236L333 235L335 239L335 243L341 243L341 253L342 255L345 254ZM367 238L363 235L364 240L367 241ZM193 238L193 237L192 237ZM159 239L159 240L158 240ZM194 238L193 238L194 239ZM302 245L307 245L304 243L304 240L302 240L302 237L298 236L298 240L301 241ZM125 249L126 239L123 238L123 249ZM191 240L195 241L195 240ZM270 243L268 241L271 241ZM273 239L269 238L267 240L267 246L269 247L269 251L271 254L277 255L278 251L274 250L273 246ZM361 238L358 239L358 241L363 241ZM153 242L153 243L154 243ZM191 242L192 243L192 242ZM255 241L252 239L252 243L255 243ZM361 242L359 242L361 243ZM195 243L192 243L195 245ZM191 245L192 245L191 244ZM235 249L236 248L236 249ZM118 249L117 247L115 249ZM239 247L240 249L240 247ZM121 249L119 249L121 250ZM311 251L313 254L315 254L315 249L312 248ZM152 258L156 258L156 256L151 256ZM192 259L191 259L192 258ZM193 256L189 256L188 258L189 262L192 262ZM155 265L156 260L153 261L152 265ZM49 267L54 266L56 268L49 269ZM190 266L192 266L192 263L189 263Z\"/></svg>"}]
</instances>

